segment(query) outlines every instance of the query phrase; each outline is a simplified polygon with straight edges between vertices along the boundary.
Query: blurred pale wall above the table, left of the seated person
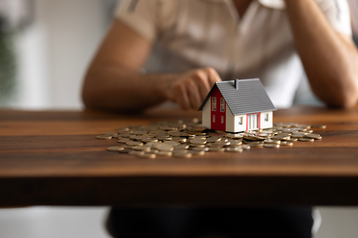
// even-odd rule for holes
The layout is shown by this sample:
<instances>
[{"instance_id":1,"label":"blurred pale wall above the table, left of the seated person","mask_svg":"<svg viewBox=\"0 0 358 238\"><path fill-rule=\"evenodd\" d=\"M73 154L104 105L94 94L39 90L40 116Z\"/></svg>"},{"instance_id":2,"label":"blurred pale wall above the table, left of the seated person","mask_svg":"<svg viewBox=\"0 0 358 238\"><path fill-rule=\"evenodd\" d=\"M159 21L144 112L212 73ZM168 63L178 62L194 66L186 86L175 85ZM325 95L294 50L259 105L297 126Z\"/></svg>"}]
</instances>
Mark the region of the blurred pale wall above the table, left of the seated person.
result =
<instances>
[{"instance_id":1,"label":"blurred pale wall above the table, left of the seated person","mask_svg":"<svg viewBox=\"0 0 358 238\"><path fill-rule=\"evenodd\" d=\"M79 109L84 72L106 33L106 1L34 2L34 22L18 34L19 91L12 105Z\"/></svg>"}]
</instances>

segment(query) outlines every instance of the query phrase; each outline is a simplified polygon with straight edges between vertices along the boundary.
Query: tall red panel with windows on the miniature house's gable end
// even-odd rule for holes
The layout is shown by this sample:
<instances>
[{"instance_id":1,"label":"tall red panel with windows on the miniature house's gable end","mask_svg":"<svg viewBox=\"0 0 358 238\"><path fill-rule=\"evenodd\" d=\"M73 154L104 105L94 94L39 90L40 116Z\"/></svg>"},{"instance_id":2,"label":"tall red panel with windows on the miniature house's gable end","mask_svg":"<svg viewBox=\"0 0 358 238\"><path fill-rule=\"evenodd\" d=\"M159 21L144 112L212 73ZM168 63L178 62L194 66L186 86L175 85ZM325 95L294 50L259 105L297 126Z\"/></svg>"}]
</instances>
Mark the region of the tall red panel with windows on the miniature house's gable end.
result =
<instances>
[{"instance_id":1,"label":"tall red panel with windows on the miniature house's gable end","mask_svg":"<svg viewBox=\"0 0 358 238\"><path fill-rule=\"evenodd\" d=\"M226 131L226 102L219 88L211 94L211 128L212 130Z\"/></svg>"}]
</instances>

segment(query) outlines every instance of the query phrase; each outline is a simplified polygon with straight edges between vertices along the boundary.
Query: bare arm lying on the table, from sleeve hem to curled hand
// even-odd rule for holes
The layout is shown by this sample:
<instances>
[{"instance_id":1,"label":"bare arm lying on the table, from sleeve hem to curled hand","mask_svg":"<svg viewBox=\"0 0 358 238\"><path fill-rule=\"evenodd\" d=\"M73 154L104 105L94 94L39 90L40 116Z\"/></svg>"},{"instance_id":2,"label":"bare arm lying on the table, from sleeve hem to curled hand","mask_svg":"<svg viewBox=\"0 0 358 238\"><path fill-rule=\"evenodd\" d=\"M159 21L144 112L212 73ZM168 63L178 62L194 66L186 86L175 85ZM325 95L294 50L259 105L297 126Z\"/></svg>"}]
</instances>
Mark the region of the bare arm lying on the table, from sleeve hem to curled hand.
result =
<instances>
[{"instance_id":1,"label":"bare arm lying on the table, from sleeve hem to curled hand","mask_svg":"<svg viewBox=\"0 0 358 238\"><path fill-rule=\"evenodd\" d=\"M200 107L220 77L212 68L183 74L141 74L152 48L148 41L115 20L91 63L82 99L87 107L141 111L172 100L183 109Z\"/></svg>"}]
</instances>

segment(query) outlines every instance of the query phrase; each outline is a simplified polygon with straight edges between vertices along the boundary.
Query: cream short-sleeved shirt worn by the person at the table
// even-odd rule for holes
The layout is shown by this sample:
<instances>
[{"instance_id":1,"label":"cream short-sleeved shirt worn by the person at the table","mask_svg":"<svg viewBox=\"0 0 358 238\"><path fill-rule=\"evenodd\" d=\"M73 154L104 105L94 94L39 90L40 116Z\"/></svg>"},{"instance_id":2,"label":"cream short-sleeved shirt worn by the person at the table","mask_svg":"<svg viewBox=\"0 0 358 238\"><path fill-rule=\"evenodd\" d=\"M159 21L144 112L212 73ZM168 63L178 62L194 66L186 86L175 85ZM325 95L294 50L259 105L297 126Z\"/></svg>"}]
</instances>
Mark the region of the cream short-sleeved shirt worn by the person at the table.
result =
<instances>
[{"instance_id":1,"label":"cream short-sleeved shirt worn by the person at the table","mask_svg":"<svg viewBox=\"0 0 358 238\"><path fill-rule=\"evenodd\" d=\"M352 35L345 0L316 0ZM122 0L116 19L155 42L149 72L213 67L223 80L260 77L276 107L290 107L305 77L282 0L254 0L240 18L231 0Z\"/></svg>"}]
</instances>

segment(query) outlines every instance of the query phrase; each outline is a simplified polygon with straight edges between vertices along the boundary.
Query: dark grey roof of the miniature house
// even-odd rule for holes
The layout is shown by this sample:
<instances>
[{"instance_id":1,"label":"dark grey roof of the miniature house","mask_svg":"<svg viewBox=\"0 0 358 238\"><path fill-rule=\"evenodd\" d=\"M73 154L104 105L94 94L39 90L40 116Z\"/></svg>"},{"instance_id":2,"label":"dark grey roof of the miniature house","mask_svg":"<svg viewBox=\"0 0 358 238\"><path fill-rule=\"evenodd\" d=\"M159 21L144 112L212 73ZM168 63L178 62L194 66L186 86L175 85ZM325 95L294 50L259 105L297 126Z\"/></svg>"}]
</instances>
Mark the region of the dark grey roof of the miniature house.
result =
<instances>
[{"instance_id":1,"label":"dark grey roof of the miniature house","mask_svg":"<svg viewBox=\"0 0 358 238\"><path fill-rule=\"evenodd\" d=\"M236 81L238 90L236 90L235 87ZM260 79L236 79L215 83L198 111L203 110L205 103L210 98L210 95L215 88L219 88L226 104L234 115L276 110L276 107L274 107L264 90L264 86L262 86Z\"/></svg>"}]
</instances>

